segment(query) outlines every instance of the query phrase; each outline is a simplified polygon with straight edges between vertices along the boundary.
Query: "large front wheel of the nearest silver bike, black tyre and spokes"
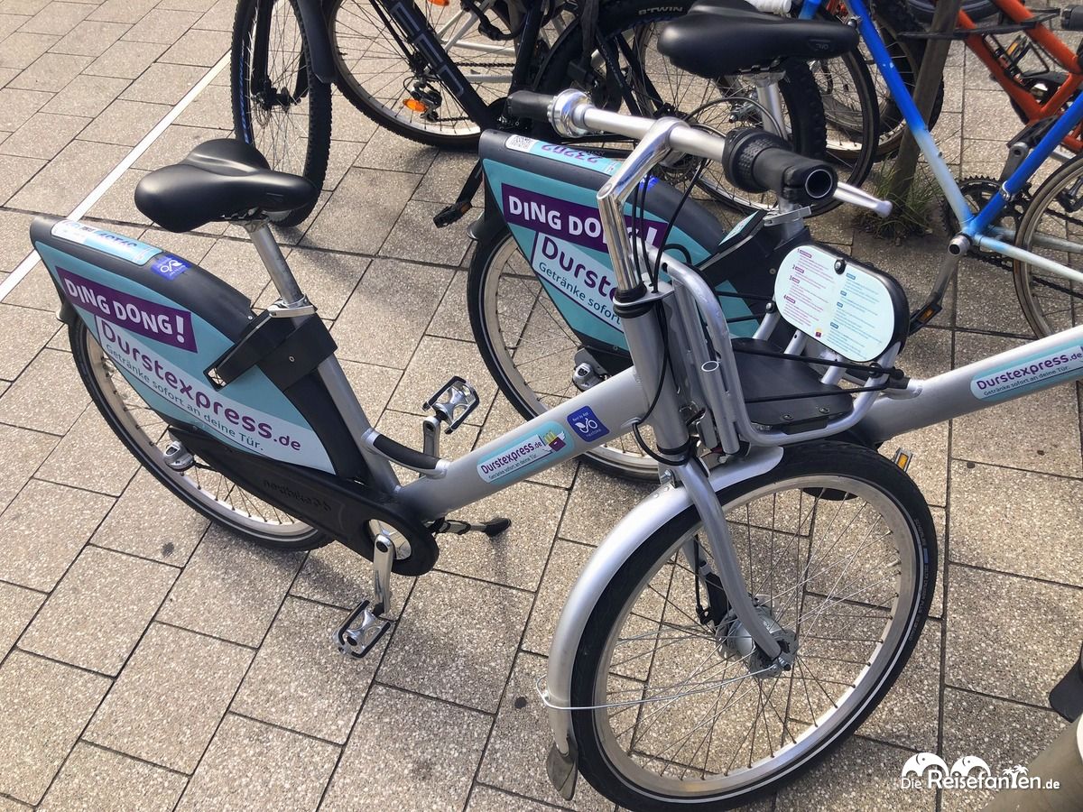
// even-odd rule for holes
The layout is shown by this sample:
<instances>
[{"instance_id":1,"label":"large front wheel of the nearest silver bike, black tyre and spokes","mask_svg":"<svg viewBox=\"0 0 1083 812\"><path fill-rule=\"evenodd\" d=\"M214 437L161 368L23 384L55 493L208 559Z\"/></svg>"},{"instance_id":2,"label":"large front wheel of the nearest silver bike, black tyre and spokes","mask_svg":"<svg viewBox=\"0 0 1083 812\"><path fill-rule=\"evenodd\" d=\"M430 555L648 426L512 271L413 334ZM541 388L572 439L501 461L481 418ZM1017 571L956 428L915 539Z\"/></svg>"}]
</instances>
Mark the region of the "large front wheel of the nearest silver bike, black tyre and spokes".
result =
<instances>
[{"instance_id":1,"label":"large front wheel of the nearest silver bike, black tyre and spokes","mask_svg":"<svg viewBox=\"0 0 1083 812\"><path fill-rule=\"evenodd\" d=\"M932 521L887 459L796 446L718 498L748 592L794 662L770 672L719 607L694 509L651 535L591 610L572 672L579 770L621 807L728 809L777 791L869 716L925 623Z\"/></svg>"}]
</instances>

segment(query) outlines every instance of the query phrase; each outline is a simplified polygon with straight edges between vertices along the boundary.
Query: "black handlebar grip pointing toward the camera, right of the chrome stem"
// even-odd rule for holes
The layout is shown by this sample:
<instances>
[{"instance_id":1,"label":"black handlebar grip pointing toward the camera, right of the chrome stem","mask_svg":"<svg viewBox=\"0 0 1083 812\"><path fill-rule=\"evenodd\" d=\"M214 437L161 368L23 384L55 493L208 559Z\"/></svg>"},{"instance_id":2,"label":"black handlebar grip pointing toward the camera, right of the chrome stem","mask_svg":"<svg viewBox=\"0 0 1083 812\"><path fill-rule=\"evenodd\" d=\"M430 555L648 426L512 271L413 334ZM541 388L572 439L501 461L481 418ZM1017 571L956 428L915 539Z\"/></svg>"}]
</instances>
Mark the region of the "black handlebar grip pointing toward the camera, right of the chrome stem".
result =
<instances>
[{"instance_id":1,"label":"black handlebar grip pointing toward the camera, right of the chrome stem","mask_svg":"<svg viewBox=\"0 0 1083 812\"><path fill-rule=\"evenodd\" d=\"M838 185L830 163L798 155L778 135L756 128L727 134L722 169L745 192L770 191L800 206L830 198Z\"/></svg>"}]
</instances>

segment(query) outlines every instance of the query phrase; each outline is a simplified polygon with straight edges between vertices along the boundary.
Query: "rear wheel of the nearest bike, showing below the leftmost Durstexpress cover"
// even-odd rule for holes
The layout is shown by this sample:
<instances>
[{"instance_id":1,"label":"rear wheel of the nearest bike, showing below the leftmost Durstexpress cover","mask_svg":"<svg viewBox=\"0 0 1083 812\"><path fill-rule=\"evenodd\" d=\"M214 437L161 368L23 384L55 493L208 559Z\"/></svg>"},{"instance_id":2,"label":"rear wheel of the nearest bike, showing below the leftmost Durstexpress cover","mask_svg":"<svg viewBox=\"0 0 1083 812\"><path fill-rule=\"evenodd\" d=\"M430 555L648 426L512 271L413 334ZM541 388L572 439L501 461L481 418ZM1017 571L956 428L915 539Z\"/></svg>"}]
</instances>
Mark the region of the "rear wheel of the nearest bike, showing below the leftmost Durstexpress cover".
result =
<instances>
[{"instance_id":1,"label":"rear wheel of the nearest bike, showing below the leftmost Durstexpress cover","mask_svg":"<svg viewBox=\"0 0 1083 812\"><path fill-rule=\"evenodd\" d=\"M312 550L330 543L331 539L319 531L270 506L260 505L255 496L214 471L205 460L195 460L186 471L170 468L162 449L168 442L166 423L117 371L82 319L76 319L68 327L68 340L79 377L105 422L140 464L181 501L232 533L271 550ZM140 420L136 415L143 419ZM210 483L200 482L205 471L220 477L213 490L205 486ZM210 477L211 474L205 475ZM244 507L238 507L235 501L244 502ZM268 509L275 518L259 518L252 512L262 509ZM292 521L287 524L283 519Z\"/></svg>"}]
</instances>

